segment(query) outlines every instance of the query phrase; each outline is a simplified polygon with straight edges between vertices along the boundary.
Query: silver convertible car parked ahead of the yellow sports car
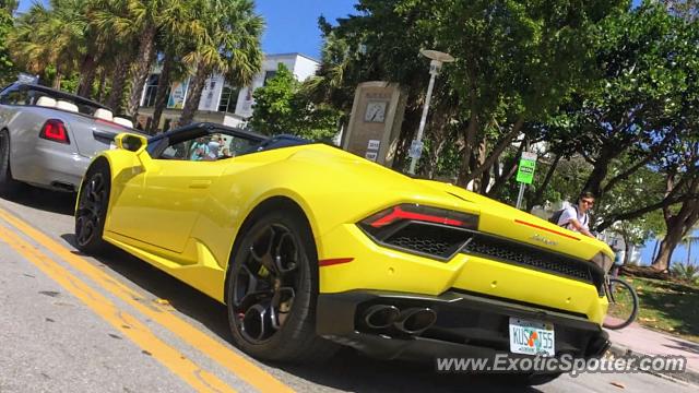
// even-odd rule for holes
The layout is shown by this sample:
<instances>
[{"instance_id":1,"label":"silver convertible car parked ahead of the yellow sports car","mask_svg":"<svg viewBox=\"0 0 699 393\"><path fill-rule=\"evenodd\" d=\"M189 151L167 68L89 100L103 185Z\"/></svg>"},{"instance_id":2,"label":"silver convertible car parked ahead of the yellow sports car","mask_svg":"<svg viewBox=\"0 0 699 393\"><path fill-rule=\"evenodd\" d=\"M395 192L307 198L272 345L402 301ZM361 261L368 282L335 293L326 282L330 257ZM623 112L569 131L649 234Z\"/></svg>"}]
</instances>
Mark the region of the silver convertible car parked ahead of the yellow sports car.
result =
<instances>
[{"instance_id":1,"label":"silver convertible car parked ahead of the yellow sports car","mask_svg":"<svg viewBox=\"0 0 699 393\"><path fill-rule=\"evenodd\" d=\"M0 194L22 183L76 191L92 157L112 145L130 120L93 100L40 85L0 92Z\"/></svg>"}]
</instances>

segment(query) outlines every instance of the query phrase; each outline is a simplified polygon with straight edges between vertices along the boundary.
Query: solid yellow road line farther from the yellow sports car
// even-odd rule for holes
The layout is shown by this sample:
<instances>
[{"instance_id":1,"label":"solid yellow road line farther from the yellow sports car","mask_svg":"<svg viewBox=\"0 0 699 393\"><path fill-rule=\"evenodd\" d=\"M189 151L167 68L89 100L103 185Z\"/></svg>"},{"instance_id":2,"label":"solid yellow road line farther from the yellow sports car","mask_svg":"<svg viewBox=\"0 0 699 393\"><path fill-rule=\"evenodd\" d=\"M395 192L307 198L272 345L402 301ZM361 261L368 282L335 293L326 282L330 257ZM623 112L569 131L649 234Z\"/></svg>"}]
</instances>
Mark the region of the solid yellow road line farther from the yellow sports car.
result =
<instances>
[{"instance_id":1,"label":"solid yellow road line farther from the yellow sports car","mask_svg":"<svg viewBox=\"0 0 699 393\"><path fill-rule=\"evenodd\" d=\"M22 257L34 263L46 275L82 300L97 315L109 322L153 358L200 392L235 392L211 372L187 359L179 350L165 344L133 315L120 310L107 298L75 277L26 240L0 226L0 239Z\"/></svg>"}]
</instances>

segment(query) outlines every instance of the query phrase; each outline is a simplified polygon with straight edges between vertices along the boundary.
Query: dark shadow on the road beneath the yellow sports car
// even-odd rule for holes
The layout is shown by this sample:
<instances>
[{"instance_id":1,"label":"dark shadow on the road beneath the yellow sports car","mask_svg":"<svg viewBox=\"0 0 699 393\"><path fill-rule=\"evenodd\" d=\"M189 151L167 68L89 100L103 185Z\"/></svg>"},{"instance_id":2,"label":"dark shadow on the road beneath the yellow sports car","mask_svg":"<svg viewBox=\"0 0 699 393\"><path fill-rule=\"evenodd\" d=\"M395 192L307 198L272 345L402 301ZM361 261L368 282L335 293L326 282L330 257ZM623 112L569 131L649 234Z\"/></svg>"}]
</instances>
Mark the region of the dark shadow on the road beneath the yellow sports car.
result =
<instances>
[{"instance_id":1,"label":"dark shadow on the road beneath the yellow sports car","mask_svg":"<svg viewBox=\"0 0 699 393\"><path fill-rule=\"evenodd\" d=\"M75 246L72 234L62 235L61 238ZM96 260L154 297L167 300L177 311L192 319L194 324L201 323L221 340L234 345L224 305L116 247L108 246L104 257L97 257ZM434 371L431 364L378 360L362 356L351 348L342 348L322 365L288 366L268 362L268 366L311 383L355 392L463 392L473 389L488 392L538 392L535 389L508 386L499 377L440 374Z\"/></svg>"}]
</instances>

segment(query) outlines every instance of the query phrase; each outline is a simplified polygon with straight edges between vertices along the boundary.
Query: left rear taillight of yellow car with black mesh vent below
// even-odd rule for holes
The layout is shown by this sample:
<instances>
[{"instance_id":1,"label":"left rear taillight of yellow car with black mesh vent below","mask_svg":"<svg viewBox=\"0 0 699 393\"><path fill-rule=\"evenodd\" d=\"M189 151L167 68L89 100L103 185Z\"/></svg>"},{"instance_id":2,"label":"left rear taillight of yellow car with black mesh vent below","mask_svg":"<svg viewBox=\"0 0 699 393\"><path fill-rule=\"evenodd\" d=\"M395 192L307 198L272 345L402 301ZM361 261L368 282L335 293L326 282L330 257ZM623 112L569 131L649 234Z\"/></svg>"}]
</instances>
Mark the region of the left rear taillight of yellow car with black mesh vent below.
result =
<instances>
[{"instance_id":1,"label":"left rear taillight of yellow car with black mesh vent below","mask_svg":"<svg viewBox=\"0 0 699 393\"><path fill-rule=\"evenodd\" d=\"M478 228L478 216L419 204L401 204L357 224L376 242L442 261L450 260Z\"/></svg>"}]
</instances>

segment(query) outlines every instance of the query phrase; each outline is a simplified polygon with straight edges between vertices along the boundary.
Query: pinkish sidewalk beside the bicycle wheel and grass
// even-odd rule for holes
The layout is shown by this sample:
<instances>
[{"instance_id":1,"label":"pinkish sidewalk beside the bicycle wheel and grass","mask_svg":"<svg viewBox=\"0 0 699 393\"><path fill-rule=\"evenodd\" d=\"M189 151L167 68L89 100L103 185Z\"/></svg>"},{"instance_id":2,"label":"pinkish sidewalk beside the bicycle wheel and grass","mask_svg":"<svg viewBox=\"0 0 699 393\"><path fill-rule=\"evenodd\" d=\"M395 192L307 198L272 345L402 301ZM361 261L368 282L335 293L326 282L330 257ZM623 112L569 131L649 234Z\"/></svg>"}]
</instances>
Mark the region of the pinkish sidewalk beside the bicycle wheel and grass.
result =
<instances>
[{"instance_id":1,"label":"pinkish sidewalk beside the bicycle wheel and grass","mask_svg":"<svg viewBox=\"0 0 699 393\"><path fill-rule=\"evenodd\" d=\"M629 350L637 355L678 355L687 358L684 373L671 373L672 378L699 384L699 344L665 333L642 327L638 323L618 330L607 330L612 341L611 352L624 355Z\"/></svg>"}]
</instances>

